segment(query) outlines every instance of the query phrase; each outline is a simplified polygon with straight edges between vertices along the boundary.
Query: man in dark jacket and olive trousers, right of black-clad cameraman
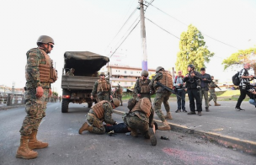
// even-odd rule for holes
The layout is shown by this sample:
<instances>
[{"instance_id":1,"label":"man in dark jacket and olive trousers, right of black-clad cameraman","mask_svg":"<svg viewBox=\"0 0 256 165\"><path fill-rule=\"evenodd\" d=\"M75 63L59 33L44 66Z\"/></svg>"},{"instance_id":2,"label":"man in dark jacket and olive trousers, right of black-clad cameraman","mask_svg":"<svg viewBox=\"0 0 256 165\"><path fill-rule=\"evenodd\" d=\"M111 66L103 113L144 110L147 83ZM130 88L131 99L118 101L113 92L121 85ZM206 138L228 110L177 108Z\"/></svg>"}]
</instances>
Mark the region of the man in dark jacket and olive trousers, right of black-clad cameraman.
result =
<instances>
[{"instance_id":1,"label":"man in dark jacket and olive trousers, right of black-clad cameraman","mask_svg":"<svg viewBox=\"0 0 256 165\"><path fill-rule=\"evenodd\" d=\"M209 100L208 100L208 91L209 91L209 83L211 83L210 74L205 73L205 67L200 69L200 98L201 103L203 103L203 97L205 98L205 111L209 112Z\"/></svg>"}]
</instances>

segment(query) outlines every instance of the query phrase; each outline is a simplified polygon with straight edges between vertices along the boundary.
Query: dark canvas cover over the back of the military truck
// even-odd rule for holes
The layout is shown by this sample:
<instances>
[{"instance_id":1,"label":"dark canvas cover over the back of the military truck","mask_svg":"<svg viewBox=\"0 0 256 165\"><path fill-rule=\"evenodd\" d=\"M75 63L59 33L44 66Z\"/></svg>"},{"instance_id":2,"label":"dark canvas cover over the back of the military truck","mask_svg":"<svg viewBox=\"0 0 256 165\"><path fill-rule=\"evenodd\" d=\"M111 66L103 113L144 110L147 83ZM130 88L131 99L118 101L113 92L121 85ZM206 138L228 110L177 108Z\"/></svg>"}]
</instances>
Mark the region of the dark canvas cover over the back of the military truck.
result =
<instances>
[{"instance_id":1,"label":"dark canvas cover over the back of the military truck","mask_svg":"<svg viewBox=\"0 0 256 165\"><path fill-rule=\"evenodd\" d=\"M101 56L90 51L66 51L64 54L66 72L74 68L76 76L89 76L99 72L109 62L109 57Z\"/></svg>"}]
</instances>

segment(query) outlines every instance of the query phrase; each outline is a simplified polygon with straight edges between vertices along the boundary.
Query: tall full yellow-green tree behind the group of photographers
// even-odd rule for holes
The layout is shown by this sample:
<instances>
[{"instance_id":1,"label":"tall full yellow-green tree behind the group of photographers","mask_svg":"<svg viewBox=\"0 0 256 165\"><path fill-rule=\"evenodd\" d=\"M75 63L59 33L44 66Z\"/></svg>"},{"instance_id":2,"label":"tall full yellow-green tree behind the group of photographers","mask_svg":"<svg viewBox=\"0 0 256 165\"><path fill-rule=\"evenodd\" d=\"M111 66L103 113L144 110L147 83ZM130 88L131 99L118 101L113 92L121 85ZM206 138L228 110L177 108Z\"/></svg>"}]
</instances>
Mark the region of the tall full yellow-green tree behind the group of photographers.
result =
<instances>
[{"instance_id":1,"label":"tall full yellow-green tree behind the group of photographers","mask_svg":"<svg viewBox=\"0 0 256 165\"><path fill-rule=\"evenodd\" d=\"M188 72L189 64L193 64L195 70L199 71L201 67L205 67L205 62L209 62L210 57L214 56L214 53L207 49L204 36L192 24L189 24L188 31L180 35L179 50L175 69L184 73Z\"/></svg>"}]
</instances>

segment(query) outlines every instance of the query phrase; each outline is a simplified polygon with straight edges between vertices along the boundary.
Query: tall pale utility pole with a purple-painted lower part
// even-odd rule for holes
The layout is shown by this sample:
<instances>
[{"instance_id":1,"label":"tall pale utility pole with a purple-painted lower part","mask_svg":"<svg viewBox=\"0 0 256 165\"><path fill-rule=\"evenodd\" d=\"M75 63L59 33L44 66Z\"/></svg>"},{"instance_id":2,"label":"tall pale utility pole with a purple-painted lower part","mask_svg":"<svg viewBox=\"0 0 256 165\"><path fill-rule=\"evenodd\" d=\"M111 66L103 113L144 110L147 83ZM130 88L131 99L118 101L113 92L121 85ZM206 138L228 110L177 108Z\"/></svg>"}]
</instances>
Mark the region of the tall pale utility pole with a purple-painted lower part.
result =
<instances>
[{"instance_id":1,"label":"tall pale utility pole with a purple-painted lower part","mask_svg":"<svg viewBox=\"0 0 256 165\"><path fill-rule=\"evenodd\" d=\"M146 30L145 30L145 18L144 18L144 4L143 0L141 4L141 50L142 50L142 70L147 69L147 42L146 42Z\"/></svg>"}]
</instances>

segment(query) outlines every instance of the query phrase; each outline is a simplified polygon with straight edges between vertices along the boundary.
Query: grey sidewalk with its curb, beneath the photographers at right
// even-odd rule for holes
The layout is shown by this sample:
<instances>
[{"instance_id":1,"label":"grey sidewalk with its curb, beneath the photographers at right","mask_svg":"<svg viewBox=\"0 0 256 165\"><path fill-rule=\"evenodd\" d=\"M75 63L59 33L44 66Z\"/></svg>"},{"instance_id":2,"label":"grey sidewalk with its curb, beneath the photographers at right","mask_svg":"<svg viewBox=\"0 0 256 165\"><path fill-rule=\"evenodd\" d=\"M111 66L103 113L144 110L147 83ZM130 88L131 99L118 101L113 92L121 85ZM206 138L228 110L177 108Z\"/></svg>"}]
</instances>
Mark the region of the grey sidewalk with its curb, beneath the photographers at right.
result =
<instances>
[{"instance_id":1,"label":"grey sidewalk with its curb, beneath the photographers at right","mask_svg":"<svg viewBox=\"0 0 256 165\"><path fill-rule=\"evenodd\" d=\"M173 120L168 120L168 123L173 131L197 136L233 150L256 155L256 109L248 101L243 101L241 107L245 111L236 111L234 109L236 103L235 101L218 101L221 106L210 106L210 112L205 112L203 103L202 116L198 116L183 112L175 113L176 100L169 99ZM186 109L189 112L188 101ZM162 110L163 114L166 114L163 104ZM127 112L127 101L124 106L114 111L116 114ZM159 125L162 125L157 114L154 118Z\"/></svg>"}]
</instances>

